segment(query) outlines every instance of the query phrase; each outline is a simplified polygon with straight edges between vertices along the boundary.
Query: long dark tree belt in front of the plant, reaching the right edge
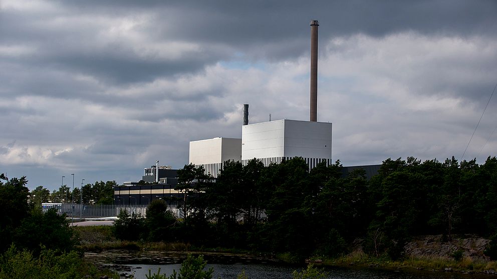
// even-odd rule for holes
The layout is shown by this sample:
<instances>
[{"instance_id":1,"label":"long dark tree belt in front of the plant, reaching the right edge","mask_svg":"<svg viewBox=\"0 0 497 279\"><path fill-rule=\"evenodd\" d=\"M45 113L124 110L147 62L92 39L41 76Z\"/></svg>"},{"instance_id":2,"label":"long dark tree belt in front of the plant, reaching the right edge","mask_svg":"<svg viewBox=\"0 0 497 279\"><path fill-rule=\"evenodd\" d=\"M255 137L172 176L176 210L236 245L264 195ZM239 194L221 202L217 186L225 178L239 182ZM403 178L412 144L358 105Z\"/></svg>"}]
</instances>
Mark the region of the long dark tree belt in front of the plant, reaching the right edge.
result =
<instances>
[{"instance_id":1,"label":"long dark tree belt in front of the plant, reaching the right edge","mask_svg":"<svg viewBox=\"0 0 497 279\"><path fill-rule=\"evenodd\" d=\"M361 238L368 253L398 258L415 235L442 234L450 240L454 233L497 232L495 157L481 165L454 158L387 159L370 180L362 169L344 177L341 167L337 161L309 170L302 158L270 166L257 159L244 166L227 161L214 180L202 168L185 165L178 170L183 195L176 200L185 217L147 216L137 222L148 226L126 237L298 258L337 256Z\"/></svg>"}]
</instances>

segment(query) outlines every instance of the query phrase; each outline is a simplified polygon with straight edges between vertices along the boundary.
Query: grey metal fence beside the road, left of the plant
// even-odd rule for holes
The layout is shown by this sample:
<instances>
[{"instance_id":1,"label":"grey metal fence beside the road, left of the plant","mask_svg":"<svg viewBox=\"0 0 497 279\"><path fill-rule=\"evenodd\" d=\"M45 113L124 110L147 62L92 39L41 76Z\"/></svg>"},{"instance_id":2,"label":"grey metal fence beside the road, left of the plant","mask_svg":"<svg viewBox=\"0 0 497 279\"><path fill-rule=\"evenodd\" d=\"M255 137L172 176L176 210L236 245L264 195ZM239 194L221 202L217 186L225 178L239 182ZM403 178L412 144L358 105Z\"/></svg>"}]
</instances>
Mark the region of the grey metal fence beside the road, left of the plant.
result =
<instances>
[{"instance_id":1,"label":"grey metal fence beside the road, left of the plant","mask_svg":"<svg viewBox=\"0 0 497 279\"><path fill-rule=\"evenodd\" d=\"M168 205L176 217L180 217L179 208L176 205ZM60 213L66 213L68 217L75 218L103 218L114 217L119 214L121 210L127 211L129 214L135 213L145 216L147 213L147 205L119 205L119 204L71 204L62 203L58 205Z\"/></svg>"}]
</instances>

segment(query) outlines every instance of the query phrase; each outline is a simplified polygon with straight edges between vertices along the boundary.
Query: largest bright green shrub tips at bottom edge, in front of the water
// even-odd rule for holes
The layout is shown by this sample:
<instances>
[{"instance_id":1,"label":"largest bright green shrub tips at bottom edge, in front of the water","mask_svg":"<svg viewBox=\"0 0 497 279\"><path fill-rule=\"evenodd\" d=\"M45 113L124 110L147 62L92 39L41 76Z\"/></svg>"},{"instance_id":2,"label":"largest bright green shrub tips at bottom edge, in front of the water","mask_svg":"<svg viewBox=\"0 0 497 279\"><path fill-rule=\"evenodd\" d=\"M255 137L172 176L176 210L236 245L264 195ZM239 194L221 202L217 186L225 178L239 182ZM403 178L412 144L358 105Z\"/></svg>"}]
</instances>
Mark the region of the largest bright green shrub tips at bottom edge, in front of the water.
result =
<instances>
[{"instance_id":1,"label":"largest bright green shrub tips at bottom edge, in front of the water","mask_svg":"<svg viewBox=\"0 0 497 279\"><path fill-rule=\"evenodd\" d=\"M176 270L173 270L173 273L169 276L160 274L159 268L157 273L154 274L150 274L151 272L148 270L148 275L145 276L147 279L211 279L214 270L212 267L204 270L206 264L207 262L203 260L202 255L194 257L192 254L188 254L181 264L179 274L176 273Z\"/></svg>"}]
</instances>

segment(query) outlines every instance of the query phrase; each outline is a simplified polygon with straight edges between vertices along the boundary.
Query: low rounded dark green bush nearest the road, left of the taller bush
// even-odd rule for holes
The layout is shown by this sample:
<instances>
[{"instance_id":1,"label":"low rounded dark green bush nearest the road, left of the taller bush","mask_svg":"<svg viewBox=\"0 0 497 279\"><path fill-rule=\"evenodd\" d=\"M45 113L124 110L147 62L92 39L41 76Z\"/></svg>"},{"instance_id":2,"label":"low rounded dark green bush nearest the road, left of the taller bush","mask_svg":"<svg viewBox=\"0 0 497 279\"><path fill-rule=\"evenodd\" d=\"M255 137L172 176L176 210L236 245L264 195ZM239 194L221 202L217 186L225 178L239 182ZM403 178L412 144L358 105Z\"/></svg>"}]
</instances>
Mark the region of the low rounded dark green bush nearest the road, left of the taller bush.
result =
<instances>
[{"instance_id":1,"label":"low rounded dark green bush nearest the road, left of the taller bush","mask_svg":"<svg viewBox=\"0 0 497 279\"><path fill-rule=\"evenodd\" d=\"M144 228L144 218L136 213L131 215L121 209L114 221L114 235L122 240L140 239Z\"/></svg>"}]
</instances>

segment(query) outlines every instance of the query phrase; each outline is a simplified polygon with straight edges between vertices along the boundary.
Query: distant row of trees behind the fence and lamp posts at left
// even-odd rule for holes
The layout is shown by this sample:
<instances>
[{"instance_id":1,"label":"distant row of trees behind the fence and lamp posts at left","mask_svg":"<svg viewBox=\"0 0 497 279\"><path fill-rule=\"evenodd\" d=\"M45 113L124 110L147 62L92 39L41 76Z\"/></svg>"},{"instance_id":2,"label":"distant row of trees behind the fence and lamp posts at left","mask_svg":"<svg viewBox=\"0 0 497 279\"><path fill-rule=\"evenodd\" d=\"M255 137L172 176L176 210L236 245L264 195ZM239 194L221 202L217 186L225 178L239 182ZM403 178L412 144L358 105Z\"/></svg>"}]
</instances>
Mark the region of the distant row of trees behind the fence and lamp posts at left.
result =
<instances>
[{"instance_id":1,"label":"distant row of trees behind the fence and lamp posts at left","mask_svg":"<svg viewBox=\"0 0 497 279\"><path fill-rule=\"evenodd\" d=\"M42 202L74 202L84 204L112 204L114 200L114 187L116 181L95 181L87 183L81 188L75 187L74 191L67 185L62 185L57 190L50 192L44 186L38 186L29 193L29 202L41 204Z\"/></svg>"}]
</instances>

